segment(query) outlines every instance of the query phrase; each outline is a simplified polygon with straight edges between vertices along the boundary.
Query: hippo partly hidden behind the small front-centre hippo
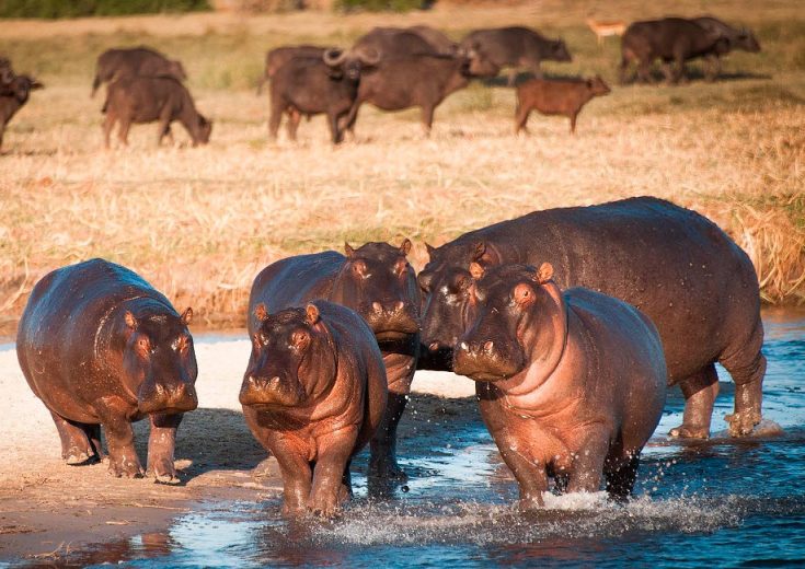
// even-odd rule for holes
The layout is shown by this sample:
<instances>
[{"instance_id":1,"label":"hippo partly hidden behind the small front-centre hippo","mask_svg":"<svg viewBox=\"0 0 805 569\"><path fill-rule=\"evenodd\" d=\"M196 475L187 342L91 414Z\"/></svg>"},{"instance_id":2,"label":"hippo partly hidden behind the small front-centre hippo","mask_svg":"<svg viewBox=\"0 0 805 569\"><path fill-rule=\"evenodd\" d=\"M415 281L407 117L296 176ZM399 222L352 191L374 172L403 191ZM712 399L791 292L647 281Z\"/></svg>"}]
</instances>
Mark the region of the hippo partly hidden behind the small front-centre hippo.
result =
<instances>
[{"instance_id":1,"label":"hippo partly hidden behind the small front-centre hippo","mask_svg":"<svg viewBox=\"0 0 805 569\"><path fill-rule=\"evenodd\" d=\"M353 309L367 322L380 346L389 385L383 421L370 444L369 474L388 480L405 479L396 463L400 422L419 349L419 289L406 259L411 241L400 247L366 243L346 255L334 251L280 259L254 279L249 297L249 334L260 328L254 310L298 306L323 299Z\"/></svg>"}]
</instances>

